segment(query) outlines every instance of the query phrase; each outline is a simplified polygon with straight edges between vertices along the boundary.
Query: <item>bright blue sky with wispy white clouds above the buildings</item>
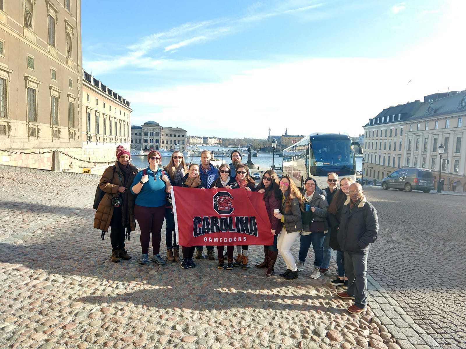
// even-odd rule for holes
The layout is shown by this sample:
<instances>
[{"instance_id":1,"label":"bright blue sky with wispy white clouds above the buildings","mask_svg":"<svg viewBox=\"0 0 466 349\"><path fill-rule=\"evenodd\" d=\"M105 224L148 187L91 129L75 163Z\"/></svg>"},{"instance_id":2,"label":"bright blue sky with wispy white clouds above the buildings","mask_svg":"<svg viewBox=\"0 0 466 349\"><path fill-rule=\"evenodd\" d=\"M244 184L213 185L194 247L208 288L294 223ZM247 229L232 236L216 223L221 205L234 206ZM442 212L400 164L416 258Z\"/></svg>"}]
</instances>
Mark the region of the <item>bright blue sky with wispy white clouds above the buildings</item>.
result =
<instances>
[{"instance_id":1,"label":"bright blue sky with wispy white clouds above the buildings","mask_svg":"<svg viewBox=\"0 0 466 349\"><path fill-rule=\"evenodd\" d=\"M356 135L385 107L466 88L463 0L134 4L82 1L84 69L133 125Z\"/></svg>"}]
</instances>

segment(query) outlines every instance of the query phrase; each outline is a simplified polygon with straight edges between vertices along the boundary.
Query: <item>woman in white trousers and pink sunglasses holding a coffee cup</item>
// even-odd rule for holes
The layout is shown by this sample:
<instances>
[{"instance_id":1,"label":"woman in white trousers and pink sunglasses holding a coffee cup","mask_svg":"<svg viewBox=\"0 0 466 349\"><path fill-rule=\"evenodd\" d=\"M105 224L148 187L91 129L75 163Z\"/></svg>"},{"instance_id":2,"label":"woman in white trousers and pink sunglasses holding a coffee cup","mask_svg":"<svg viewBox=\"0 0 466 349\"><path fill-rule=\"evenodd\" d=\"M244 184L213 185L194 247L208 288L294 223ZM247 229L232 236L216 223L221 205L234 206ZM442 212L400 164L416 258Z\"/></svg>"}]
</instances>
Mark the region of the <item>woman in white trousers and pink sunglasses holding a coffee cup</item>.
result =
<instances>
[{"instance_id":1,"label":"woman in white trousers and pink sunglasses holding a coffee cup","mask_svg":"<svg viewBox=\"0 0 466 349\"><path fill-rule=\"evenodd\" d=\"M302 230L302 195L288 175L281 177L280 190L283 193L281 201L282 213L276 212L274 217L284 223L278 238L277 248L287 265L287 270L281 273L280 276L291 280L298 277L298 268L291 253L291 246Z\"/></svg>"}]
</instances>

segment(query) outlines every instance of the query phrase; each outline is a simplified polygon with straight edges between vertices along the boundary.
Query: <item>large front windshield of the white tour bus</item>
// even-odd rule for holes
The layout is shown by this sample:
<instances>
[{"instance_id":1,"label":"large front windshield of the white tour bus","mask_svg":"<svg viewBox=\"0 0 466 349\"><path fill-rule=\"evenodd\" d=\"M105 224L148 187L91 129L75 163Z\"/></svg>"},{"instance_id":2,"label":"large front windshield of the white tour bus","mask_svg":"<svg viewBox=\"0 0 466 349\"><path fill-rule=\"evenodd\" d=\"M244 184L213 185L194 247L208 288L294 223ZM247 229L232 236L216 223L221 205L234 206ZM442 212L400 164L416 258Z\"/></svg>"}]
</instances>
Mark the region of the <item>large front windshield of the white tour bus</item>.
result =
<instances>
[{"instance_id":1,"label":"large front windshield of the white tour bus","mask_svg":"<svg viewBox=\"0 0 466 349\"><path fill-rule=\"evenodd\" d=\"M329 172L339 176L355 175L355 165L355 154L349 139L311 139L311 175L327 176Z\"/></svg>"}]
</instances>

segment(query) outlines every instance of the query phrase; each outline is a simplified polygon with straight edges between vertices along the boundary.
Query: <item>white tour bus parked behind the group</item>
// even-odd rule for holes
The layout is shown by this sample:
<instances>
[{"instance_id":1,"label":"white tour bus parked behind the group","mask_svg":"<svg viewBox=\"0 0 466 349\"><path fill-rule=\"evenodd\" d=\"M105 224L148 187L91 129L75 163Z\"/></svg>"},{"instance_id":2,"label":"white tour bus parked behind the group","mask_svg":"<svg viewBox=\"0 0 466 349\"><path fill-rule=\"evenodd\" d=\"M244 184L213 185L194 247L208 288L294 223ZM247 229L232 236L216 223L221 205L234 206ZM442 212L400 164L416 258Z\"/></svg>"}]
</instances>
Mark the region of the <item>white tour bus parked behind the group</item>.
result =
<instances>
[{"instance_id":1,"label":"white tour bus parked behind the group","mask_svg":"<svg viewBox=\"0 0 466 349\"><path fill-rule=\"evenodd\" d=\"M283 175L302 189L308 177L321 189L327 188L330 172L356 181L355 146L363 154L359 142L352 142L346 134L310 134L283 151Z\"/></svg>"}]
</instances>

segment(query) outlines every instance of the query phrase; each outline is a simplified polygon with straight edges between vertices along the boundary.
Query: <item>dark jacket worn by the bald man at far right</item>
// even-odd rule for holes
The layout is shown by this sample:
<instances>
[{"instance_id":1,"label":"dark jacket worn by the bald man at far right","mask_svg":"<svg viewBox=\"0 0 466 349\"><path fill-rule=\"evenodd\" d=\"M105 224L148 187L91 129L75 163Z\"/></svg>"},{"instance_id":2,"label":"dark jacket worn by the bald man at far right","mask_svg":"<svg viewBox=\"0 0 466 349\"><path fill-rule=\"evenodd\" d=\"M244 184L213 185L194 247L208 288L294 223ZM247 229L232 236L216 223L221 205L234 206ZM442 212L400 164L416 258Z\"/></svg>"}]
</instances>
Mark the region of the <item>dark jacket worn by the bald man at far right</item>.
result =
<instances>
[{"instance_id":1,"label":"dark jacket worn by the bald man at far right","mask_svg":"<svg viewBox=\"0 0 466 349\"><path fill-rule=\"evenodd\" d=\"M376 242L378 236L377 210L366 197L357 207L349 211L349 197L342 208L338 243L343 252L368 254L370 244Z\"/></svg>"}]
</instances>

